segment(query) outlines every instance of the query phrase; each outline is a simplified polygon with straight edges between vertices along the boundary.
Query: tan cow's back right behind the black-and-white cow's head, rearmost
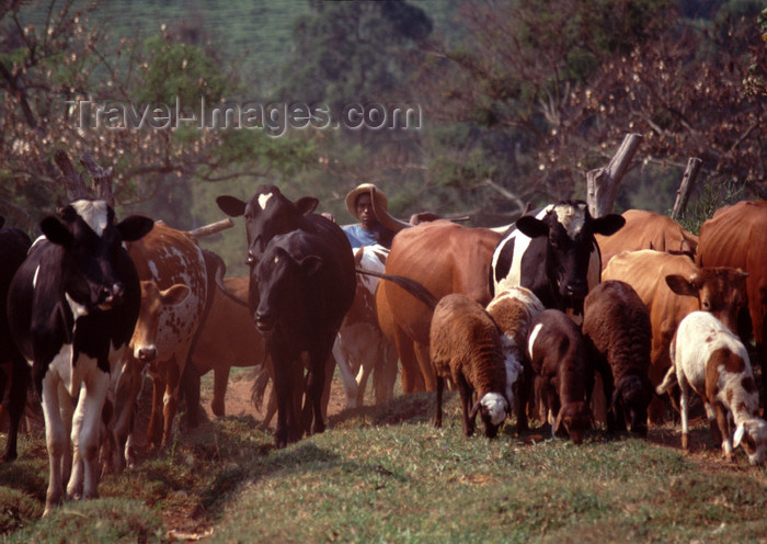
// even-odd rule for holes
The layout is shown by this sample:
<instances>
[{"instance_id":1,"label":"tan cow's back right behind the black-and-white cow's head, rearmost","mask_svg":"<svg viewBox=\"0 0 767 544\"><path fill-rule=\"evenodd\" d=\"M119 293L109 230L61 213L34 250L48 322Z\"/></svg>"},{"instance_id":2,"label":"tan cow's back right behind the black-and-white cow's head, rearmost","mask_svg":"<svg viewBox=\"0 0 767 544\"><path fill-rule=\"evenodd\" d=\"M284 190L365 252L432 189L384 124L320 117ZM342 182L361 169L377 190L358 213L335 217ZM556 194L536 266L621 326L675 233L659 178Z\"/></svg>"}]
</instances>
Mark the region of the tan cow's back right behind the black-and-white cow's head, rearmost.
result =
<instances>
[{"instance_id":1,"label":"tan cow's back right behind the black-and-white cow's head, rearmost","mask_svg":"<svg viewBox=\"0 0 767 544\"><path fill-rule=\"evenodd\" d=\"M654 249L668 253L684 253L692 258L698 247L698 237L685 230L668 216L644 209L627 209L623 228L610 236L595 235L602 250L602 268L613 256L621 251Z\"/></svg>"}]
</instances>

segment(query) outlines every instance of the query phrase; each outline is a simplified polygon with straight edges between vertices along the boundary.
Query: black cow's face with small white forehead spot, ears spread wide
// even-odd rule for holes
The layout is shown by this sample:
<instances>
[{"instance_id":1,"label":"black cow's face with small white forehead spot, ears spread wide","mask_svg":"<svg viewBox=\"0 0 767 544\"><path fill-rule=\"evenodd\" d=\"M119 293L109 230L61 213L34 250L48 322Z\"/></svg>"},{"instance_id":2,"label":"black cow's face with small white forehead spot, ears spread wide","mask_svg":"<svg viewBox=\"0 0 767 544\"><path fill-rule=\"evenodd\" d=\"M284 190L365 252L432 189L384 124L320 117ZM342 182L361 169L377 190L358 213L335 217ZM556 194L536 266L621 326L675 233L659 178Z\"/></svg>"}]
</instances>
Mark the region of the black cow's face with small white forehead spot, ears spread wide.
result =
<instances>
[{"instance_id":1,"label":"black cow's face with small white forehead spot, ears spread wide","mask_svg":"<svg viewBox=\"0 0 767 544\"><path fill-rule=\"evenodd\" d=\"M228 195L219 196L216 203L227 215L244 215L248 233L247 262L254 267L270 240L299 228L301 218L314 211L318 200L304 196L294 203L276 186L262 185L247 203Z\"/></svg>"}]
</instances>

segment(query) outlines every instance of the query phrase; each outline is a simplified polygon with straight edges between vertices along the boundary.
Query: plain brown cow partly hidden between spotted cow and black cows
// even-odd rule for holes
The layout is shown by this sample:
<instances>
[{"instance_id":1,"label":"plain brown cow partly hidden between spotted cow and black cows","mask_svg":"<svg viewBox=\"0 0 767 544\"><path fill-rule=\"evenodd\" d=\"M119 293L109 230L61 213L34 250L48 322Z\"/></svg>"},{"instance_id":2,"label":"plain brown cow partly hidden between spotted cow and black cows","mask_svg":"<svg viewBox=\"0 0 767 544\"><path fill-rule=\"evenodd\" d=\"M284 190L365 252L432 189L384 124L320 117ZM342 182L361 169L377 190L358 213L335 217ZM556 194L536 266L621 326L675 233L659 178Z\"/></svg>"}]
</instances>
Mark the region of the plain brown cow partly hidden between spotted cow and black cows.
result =
<instances>
[{"instance_id":1,"label":"plain brown cow partly hidden between spotted cow and black cows","mask_svg":"<svg viewBox=\"0 0 767 544\"><path fill-rule=\"evenodd\" d=\"M224 285L243 303L248 301L250 277L227 277ZM245 303L247 304L247 303ZM199 326L194 351L190 356L193 372L184 376L184 395L188 409L199 405L199 377L213 371L214 390L210 408L215 416L226 415L225 395L232 366L255 366L266 360L264 338L255 328L248 306L237 304L216 287L213 303ZM187 379L191 378L191 379Z\"/></svg>"}]
</instances>

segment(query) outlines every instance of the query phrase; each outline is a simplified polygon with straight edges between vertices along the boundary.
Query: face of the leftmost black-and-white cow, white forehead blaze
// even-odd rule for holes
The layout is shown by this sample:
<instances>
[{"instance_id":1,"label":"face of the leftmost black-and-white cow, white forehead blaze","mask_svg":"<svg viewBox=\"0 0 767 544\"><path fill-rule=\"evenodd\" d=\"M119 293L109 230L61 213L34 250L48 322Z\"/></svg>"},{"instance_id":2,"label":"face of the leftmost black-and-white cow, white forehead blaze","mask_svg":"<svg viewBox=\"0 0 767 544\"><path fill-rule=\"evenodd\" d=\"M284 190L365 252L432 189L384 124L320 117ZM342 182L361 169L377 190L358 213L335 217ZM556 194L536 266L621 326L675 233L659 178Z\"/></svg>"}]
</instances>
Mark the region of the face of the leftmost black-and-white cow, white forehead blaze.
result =
<instances>
[{"instance_id":1,"label":"face of the leftmost black-and-white cow, white forehead blaze","mask_svg":"<svg viewBox=\"0 0 767 544\"><path fill-rule=\"evenodd\" d=\"M125 252L122 243L140 239L152 226L141 216L115 225L114 211L105 202L87 200L66 206L59 217L43 219L43 234L64 250L65 293L77 314L122 303L125 286L116 269Z\"/></svg>"}]
</instances>

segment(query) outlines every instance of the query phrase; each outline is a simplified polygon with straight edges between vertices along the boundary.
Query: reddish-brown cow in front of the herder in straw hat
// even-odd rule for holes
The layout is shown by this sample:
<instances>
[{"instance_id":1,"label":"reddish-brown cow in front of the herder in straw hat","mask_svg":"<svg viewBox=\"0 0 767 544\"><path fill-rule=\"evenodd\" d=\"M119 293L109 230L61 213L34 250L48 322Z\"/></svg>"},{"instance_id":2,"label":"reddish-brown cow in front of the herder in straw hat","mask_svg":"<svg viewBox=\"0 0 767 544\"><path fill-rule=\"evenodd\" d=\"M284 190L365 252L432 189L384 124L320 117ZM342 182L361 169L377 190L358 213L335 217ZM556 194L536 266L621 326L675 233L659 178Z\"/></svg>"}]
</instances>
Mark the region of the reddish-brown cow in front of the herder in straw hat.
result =
<instances>
[{"instance_id":1,"label":"reddish-brown cow in front of the herder in straw hat","mask_svg":"<svg viewBox=\"0 0 767 544\"><path fill-rule=\"evenodd\" d=\"M386 262L387 274L423 284L437 299L462 293L481 305L490 302L490 259L499 233L468 228L447 220L424 223L400 231ZM402 390L435 390L428 355L432 309L391 282L376 293L378 322L397 344L402 363Z\"/></svg>"}]
</instances>

